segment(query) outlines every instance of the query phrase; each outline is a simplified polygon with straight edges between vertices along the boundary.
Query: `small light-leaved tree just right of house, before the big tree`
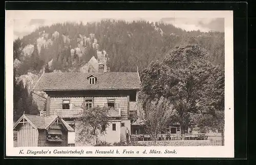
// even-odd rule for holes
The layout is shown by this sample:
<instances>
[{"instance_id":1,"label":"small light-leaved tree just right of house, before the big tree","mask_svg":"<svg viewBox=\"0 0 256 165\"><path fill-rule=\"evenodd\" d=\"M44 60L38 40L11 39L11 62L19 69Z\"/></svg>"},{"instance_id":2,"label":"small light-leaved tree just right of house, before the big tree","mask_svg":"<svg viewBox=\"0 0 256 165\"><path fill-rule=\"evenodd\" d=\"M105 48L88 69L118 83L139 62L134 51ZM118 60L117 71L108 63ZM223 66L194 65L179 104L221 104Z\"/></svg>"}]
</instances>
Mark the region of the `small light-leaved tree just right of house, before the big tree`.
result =
<instances>
[{"instance_id":1,"label":"small light-leaved tree just right of house, before the big tree","mask_svg":"<svg viewBox=\"0 0 256 165\"><path fill-rule=\"evenodd\" d=\"M164 97L153 101L147 100L143 93L139 97L143 107L139 112L139 118L143 121L144 130L154 138L156 145L158 134L166 127L169 118L175 115L175 111L172 104Z\"/></svg>"}]
</instances>

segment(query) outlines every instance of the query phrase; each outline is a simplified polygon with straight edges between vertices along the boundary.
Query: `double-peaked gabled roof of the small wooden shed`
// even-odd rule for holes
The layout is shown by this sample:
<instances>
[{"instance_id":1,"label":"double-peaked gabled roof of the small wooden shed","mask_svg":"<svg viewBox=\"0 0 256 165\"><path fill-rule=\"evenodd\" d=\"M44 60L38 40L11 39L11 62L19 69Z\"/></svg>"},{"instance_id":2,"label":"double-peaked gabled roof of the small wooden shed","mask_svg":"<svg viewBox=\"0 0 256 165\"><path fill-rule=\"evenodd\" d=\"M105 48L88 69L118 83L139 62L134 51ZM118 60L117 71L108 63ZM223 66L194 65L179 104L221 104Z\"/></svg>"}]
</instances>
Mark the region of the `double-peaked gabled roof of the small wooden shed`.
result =
<instances>
[{"instance_id":1,"label":"double-peaked gabled roof of the small wooden shed","mask_svg":"<svg viewBox=\"0 0 256 165\"><path fill-rule=\"evenodd\" d=\"M75 131L68 123L65 122L65 120L61 119L58 116L44 117L27 114L24 114L17 120L17 122L13 126L14 130L23 118L26 119L35 129L48 129L57 119L59 119L59 121L64 125L64 127L68 131Z\"/></svg>"}]
</instances>

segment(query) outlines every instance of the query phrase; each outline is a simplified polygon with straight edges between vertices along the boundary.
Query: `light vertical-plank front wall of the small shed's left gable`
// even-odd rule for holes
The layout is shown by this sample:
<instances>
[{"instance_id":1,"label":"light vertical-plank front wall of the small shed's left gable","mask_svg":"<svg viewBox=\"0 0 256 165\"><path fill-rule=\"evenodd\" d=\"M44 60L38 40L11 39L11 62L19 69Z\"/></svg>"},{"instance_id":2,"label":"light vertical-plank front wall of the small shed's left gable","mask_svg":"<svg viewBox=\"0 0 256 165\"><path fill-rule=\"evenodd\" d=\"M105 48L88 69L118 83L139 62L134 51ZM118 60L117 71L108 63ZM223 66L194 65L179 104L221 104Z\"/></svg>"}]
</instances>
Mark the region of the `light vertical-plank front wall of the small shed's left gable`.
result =
<instances>
[{"instance_id":1,"label":"light vertical-plank front wall of the small shed's left gable","mask_svg":"<svg viewBox=\"0 0 256 165\"><path fill-rule=\"evenodd\" d=\"M21 125L17 133L17 147L37 147L37 129L28 122Z\"/></svg>"}]
</instances>

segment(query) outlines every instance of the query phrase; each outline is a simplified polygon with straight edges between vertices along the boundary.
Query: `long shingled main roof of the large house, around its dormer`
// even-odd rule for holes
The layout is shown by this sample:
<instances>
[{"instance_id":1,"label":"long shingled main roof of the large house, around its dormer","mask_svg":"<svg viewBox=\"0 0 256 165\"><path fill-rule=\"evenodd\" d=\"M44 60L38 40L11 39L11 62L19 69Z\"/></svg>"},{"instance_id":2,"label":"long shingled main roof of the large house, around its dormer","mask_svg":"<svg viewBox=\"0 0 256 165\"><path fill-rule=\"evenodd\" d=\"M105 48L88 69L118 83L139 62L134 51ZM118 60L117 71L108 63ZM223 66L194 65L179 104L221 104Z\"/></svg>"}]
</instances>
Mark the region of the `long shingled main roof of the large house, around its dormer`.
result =
<instances>
[{"instance_id":1,"label":"long shingled main roof of the large house, around its dormer","mask_svg":"<svg viewBox=\"0 0 256 165\"><path fill-rule=\"evenodd\" d=\"M88 76L97 77L95 85L90 85ZM138 72L99 73L44 73L33 91L66 90L128 90L140 89Z\"/></svg>"}]
</instances>

